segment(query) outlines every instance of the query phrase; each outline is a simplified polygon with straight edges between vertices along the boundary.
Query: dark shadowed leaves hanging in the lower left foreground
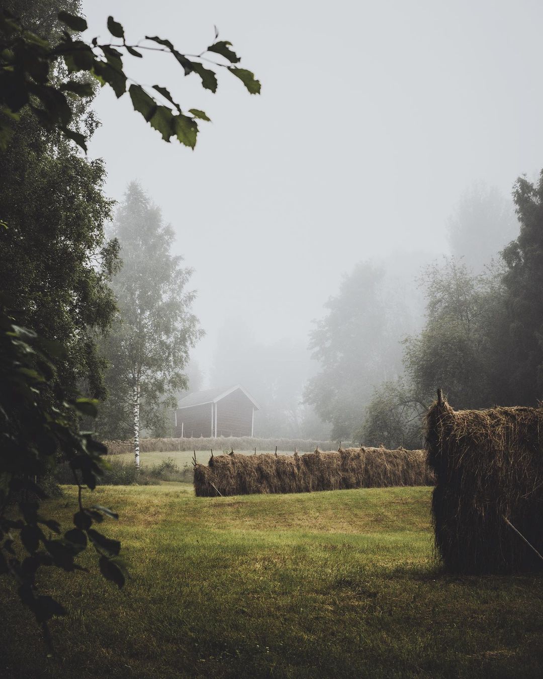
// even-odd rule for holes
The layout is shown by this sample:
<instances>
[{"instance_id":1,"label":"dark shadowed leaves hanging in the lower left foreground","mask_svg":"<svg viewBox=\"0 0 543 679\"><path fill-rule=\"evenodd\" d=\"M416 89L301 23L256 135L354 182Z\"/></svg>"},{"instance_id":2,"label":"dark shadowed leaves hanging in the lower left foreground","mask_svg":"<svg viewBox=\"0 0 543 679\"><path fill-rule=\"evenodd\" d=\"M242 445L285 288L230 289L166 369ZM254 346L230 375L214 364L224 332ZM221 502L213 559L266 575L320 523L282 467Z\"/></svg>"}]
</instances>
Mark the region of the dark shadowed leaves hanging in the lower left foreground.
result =
<instances>
[{"instance_id":1,"label":"dark shadowed leaves hanging in the lower left foreground","mask_svg":"<svg viewBox=\"0 0 543 679\"><path fill-rule=\"evenodd\" d=\"M5 305L0 310L0 574L11 574L18 583L20 600L30 608L43 627L64 607L37 587L41 568L54 566L64 571L81 570L77 555L92 545L98 554L100 571L121 587L126 567L119 559L120 543L93 526L105 516L117 515L107 507L83 504L83 488L92 490L102 474L105 446L89 433L80 432L80 415L96 416L96 402L65 399L60 388L52 403L44 397L48 382L55 378L50 356L62 354L62 347L41 339L21 327ZM41 479L54 470L58 455L66 460L79 489L79 509L73 528L62 531L57 521L40 511L46 497ZM12 511L17 504L18 512Z\"/></svg>"}]
</instances>

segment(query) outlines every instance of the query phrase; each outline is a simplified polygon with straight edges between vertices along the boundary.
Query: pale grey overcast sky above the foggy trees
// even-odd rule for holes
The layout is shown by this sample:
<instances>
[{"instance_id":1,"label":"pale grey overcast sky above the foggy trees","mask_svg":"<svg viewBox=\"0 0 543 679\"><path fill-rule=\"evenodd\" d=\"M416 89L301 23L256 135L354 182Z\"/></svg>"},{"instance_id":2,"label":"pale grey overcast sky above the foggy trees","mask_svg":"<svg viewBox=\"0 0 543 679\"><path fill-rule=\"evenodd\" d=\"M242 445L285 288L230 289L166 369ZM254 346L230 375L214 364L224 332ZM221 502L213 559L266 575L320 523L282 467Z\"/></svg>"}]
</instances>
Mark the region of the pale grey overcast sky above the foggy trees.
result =
<instances>
[{"instance_id":1,"label":"pale grey overcast sky above the foggy trees","mask_svg":"<svg viewBox=\"0 0 543 679\"><path fill-rule=\"evenodd\" d=\"M173 58L127 61L143 83L204 109L195 151L164 143L109 88L91 157L107 192L141 181L195 269L208 369L225 320L255 336L305 339L354 263L446 251L445 223L474 181L509 194L543 166L540 0L92 0L128 39L201 52L214 24L262 82L250 96L225 73L213 95Z\"/></svg>"}]
</instances>

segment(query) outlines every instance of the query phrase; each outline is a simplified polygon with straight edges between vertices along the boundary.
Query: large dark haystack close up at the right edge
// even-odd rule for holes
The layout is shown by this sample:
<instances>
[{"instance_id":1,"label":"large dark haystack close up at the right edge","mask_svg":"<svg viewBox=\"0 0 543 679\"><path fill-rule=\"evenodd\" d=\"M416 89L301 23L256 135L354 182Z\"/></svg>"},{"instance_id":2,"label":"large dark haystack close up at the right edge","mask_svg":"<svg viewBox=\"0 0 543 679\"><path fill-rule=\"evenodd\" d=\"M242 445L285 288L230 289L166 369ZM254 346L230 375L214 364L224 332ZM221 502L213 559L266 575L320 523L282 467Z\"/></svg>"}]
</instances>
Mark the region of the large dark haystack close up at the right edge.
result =
<instances>
[{"instance_id":1,"label":"large dark haystack close up at the right edge","mask_svg":"<svg viewBox=\"0 0 543 679\"><path fill-rule=\"evenodd\" d=\"M427 418L436 548L447 570L507 574L543 561L543 408L454 411ZM508 523L508 521L510 523Z\"/></svg>"}]
</instances>

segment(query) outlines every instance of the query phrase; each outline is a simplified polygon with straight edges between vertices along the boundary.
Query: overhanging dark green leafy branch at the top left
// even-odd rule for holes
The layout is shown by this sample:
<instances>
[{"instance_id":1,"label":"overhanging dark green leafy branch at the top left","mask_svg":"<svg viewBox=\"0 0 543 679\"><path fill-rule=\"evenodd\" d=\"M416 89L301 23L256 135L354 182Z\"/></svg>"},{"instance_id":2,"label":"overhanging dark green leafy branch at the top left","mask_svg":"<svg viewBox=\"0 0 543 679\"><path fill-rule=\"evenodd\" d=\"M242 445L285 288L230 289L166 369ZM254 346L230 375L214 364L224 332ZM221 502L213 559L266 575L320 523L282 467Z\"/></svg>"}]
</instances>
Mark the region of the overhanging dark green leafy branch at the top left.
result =
<instances>
[{"instance_id":1,"label":"overhanging dark green leafy branch at the top left","mask_svg":"<svg viewBox=\"0 0 543 679\"><path fill-rule=\"evenodd\" d=\"M22 111L29 109L45 130L60 130L86 150L86 134L75 130L71 124L77 100L92 97L94 88L91 82L81 81L77 76L90 75L101 86L111 87L119 98L127 92L128 84L123 59L126 55L142 58L145 50L170 54L181 65L185 76L195 73L200 77L202 87L210 92L217 91L217 75L214 70L204 67L204 59L214 69L223 68L235 75L250 94L260 93L261 84L251 71L231 65L240 62L240 58L230 49L229 41L216 41L201 54L187 55L176 50L168 39L158 36L146 36L136 44L128 43L123 26L112 16L107 19L107 29L116 42L101 42L96 37L90 41L81 39L78 34L87 30L87 22L77 14L62 11L58 20L65 27L62 34L55 39L45 39L24 28L7 10L0 12L0 149L7 148L14 122L20 119ZM217 54L225 62L214 61L206 54ZM67 77L54 77L54 69L59 63L66 67ZM145 88L132 83L128 92L134 110L160 132L162 139L176 138L185 146L195 147L197 120L209 120L203 111L183 111L162 86ZM160 94L160 98L156 98L155 93Z\"/></svg>"}]
</instances>

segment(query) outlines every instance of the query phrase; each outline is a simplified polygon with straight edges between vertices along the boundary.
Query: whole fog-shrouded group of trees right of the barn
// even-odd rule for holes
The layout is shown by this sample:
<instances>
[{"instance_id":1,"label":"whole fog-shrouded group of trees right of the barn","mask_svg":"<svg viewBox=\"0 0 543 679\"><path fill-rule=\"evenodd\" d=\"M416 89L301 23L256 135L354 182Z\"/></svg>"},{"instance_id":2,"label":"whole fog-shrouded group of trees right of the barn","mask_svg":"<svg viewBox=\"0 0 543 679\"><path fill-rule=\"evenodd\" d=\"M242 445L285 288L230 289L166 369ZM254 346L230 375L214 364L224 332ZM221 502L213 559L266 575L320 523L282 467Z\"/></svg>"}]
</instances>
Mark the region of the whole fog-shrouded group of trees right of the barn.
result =
<instances>
[{"instance_id":1,"label":"whole fog-shrouded group of trees right of the barn","mask_svg":"<svg viewBox=\"0 0 543 679\"><path fill-rule=\"evenodd\" d=\"M480 187L462 200L449 225L456 256L419 276L426 313L418 332L391 325L394 299L379 303L382 283L367 266L331 299L312 335L321 371L305 398L336 437L420 447L438 387L457 408L543 399L543 172L536 183L519 178L512 195L517 238L493 256L492 243L512 234L511 210Z\"/></svg>"}]
</instances>

